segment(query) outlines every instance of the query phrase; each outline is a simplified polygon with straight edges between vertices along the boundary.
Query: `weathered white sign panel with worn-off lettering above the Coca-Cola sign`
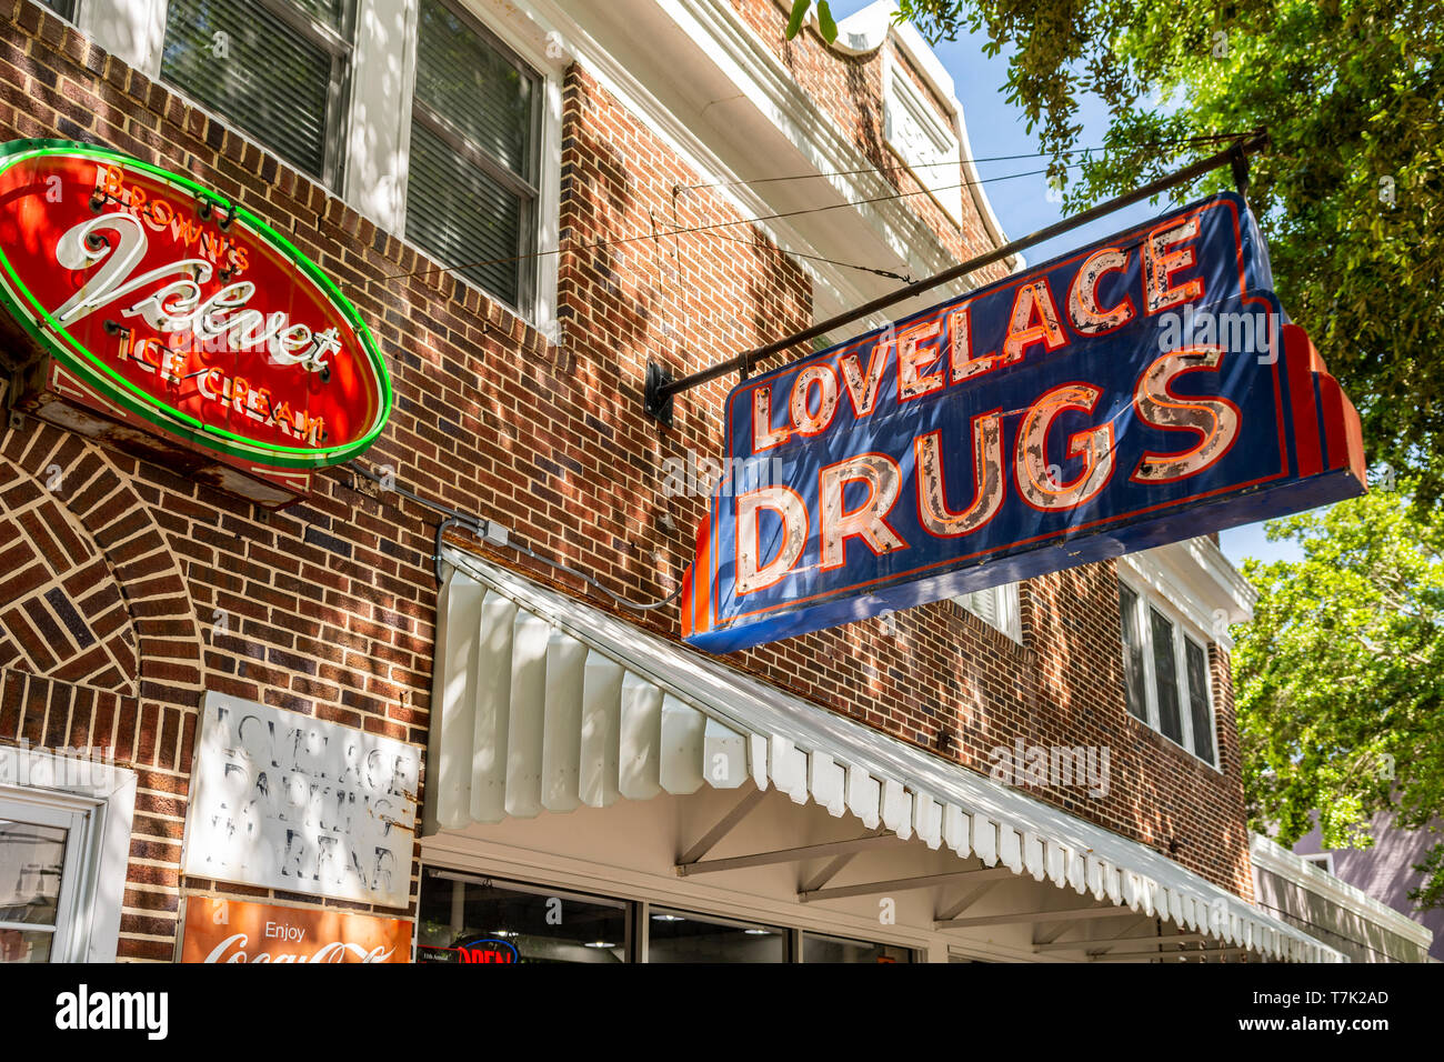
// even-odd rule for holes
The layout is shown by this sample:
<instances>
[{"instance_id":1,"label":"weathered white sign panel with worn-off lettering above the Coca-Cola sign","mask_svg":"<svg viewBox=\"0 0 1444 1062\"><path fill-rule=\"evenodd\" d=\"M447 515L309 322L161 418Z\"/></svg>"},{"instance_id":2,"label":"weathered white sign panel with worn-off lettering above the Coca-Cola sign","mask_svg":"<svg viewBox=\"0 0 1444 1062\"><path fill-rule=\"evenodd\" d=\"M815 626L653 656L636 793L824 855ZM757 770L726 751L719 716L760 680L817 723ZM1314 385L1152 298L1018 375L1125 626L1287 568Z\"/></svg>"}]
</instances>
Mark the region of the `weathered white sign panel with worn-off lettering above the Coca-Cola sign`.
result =
<instances>
[{"instance_id":1,"label":"weathered white sign panel with worn-off lettering above the Coca-Cola sign","mask_svg":"<svg viewBox=\"0 0 1444 1062\"><path fill-rule=\"evenodd\" d=\"M183 873L407 905L420 748L208 692L193 763Z\"/></svg>"}]
</instances>

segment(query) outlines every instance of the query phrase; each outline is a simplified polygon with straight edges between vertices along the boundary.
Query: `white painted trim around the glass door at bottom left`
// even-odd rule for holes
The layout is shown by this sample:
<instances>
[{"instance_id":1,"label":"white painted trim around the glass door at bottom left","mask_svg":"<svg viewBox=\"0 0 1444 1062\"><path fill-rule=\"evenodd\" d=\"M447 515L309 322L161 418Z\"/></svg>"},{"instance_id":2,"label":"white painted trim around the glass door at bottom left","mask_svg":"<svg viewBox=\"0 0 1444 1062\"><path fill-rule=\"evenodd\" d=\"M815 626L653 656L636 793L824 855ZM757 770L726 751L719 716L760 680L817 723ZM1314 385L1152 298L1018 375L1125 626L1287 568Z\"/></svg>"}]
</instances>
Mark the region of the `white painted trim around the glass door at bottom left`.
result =
<instances>
[{"instance_id":1,"label":"white painted trim around the glass door at bottom left","mask_svg":"<svg viewBox=\"0 0 1444 1062\"><path fill-rule=\"evenodd\" d=\"M78 770L77 764L84 770ZM29 782L29 785L20 785ZM66 961L114 962L130 861L136 773L46 748L0 747L0 796L36 799L91 815L77 923Z\"/></svg>"}]
</instances>

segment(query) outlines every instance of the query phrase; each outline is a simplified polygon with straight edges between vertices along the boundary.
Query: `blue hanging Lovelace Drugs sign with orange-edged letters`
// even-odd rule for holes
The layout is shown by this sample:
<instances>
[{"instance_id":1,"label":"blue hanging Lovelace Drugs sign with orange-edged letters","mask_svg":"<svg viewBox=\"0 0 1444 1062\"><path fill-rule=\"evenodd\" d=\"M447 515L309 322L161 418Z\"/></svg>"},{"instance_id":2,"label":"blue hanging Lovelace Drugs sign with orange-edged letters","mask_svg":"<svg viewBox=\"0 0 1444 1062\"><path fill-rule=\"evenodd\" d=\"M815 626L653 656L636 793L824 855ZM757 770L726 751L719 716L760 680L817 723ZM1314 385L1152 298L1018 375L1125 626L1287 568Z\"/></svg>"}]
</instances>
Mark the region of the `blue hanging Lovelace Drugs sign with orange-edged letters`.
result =
<instances>
[{"instance_id":1,"label":"blue hanging Lovelace Drugs sign with orange-edged letters","mask_svg":"<svg viewBox=\"0 0 1444 1062\"><path fill-rule=\"evenodd\" d=\"M723 653L1365 491L1359 416L1232 192L726 399L683 587Z\"/></svg>"}]
</instances>

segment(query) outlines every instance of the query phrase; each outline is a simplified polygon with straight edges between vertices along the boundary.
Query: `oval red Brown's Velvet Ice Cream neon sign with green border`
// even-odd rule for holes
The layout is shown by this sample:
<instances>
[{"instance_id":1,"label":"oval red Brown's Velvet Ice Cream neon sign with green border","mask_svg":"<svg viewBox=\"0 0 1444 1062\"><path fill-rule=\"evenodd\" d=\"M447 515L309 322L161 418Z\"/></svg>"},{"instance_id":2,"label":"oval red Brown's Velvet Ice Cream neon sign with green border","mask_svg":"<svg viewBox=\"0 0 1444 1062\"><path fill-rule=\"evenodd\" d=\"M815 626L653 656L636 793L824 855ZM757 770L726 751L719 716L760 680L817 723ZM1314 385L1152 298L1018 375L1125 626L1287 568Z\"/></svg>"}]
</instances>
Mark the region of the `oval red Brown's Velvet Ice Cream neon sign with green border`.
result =
<instances>
[{"instance_id":1,"label":"oval red Brown's Velvet Ice Cream neon sign with green border","mask_svg":"<svg viewBox=\"0 0 1444 1062\"><path fill-rule=\"evenodd\" d=\"M0 146L0 298L72 387L230 458L336 464L390 412L375 340L315 263L219 192L104 147Z\"/></svg>"}]
</instances>

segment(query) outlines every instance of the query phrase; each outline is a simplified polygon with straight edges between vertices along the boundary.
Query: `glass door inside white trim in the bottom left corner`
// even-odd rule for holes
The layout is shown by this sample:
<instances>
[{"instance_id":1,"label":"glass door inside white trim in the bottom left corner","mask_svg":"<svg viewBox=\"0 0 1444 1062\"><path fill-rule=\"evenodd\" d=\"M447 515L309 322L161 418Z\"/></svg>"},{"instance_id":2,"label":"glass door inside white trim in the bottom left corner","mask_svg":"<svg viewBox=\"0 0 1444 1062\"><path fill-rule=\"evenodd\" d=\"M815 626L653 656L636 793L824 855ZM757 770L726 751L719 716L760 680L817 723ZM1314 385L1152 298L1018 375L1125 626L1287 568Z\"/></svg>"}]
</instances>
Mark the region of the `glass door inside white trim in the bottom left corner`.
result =
<instances>
[{"instance_id":1,"label":"glass door inside white trim in the bottom left corner","mask_svg":"<svg viewBox=\"0 0 1444 1062\"><path fill-rule=\"evenodd\" d=\"M72 959L87 812L0 796L0 962Z\"/></svg>"}]
</instances>

